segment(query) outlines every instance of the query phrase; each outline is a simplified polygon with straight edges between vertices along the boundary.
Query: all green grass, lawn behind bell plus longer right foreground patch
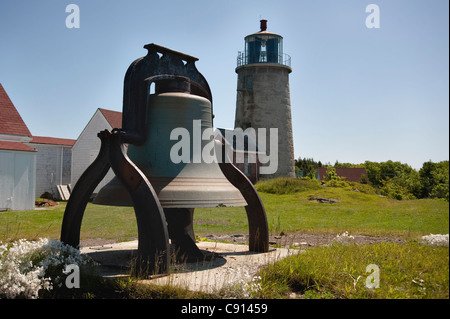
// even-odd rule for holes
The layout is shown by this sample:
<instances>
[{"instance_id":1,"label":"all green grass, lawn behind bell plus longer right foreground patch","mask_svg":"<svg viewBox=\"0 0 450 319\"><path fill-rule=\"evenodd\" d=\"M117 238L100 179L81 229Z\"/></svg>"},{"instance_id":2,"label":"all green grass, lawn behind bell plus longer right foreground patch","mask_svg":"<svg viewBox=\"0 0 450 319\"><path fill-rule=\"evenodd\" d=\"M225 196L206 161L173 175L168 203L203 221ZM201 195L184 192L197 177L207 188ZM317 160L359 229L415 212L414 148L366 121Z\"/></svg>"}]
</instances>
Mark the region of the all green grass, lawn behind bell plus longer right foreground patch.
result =
<instances>
[{"instance_id":1,"label":"all green grass, lawn behind bell plus longer right foreground patch","mask_svg":"<svg viewBox=\"0 0 450 319\"><path fill-rule=\"evenodd\" d=\"M418 243L423 235L449 233L448 202L397 201L349 188L308 185L286 194L260 191L260 196L270 233L274 235L282 231L332 234L348 231L351 235L401 237L407 244L351 244L307 249L262 270L260 286L252 291L252 297L286 298L294 294L302 298L449 298L449 248ZM311 200L319 197L338 202L323 204ZM61 202L45 210L0 212L0 241L58 239L65 206L66 203ZM246 234L247 225L243 207L202 208L194 213L194 229L199 236ZM88 204L81 228L82 239L125 241L136 237L133 208ZM379 288L365 286L369 264L379 267ZM153 292L139 290L136 294L135 285L122 285L125 286L121 291L132 290L133 298L154 296L153 290L161 289L153 287Z\"/></svg>"}]
</instances>

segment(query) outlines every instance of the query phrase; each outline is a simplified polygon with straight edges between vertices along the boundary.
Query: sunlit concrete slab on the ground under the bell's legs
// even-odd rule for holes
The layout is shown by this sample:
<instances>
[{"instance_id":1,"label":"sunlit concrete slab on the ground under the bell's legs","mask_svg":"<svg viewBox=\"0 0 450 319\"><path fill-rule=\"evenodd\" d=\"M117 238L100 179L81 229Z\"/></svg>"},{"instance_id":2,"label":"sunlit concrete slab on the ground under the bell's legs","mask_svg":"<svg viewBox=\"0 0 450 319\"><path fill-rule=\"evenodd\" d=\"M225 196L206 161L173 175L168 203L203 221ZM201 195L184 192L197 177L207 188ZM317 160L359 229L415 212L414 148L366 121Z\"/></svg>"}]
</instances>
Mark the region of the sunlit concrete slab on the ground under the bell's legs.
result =
<instances>
[{"instance_id":1,"label":"sunlit concrete slab on the ground under the bell's legs","mask_svg":"<svg viewBox=\"0 0 450 319\"><path fill-rule=\"evenodd\" d=\"M108 278L130 276L130 262L137 252L137 241L104 246L83 247L81 253L100 263L101 275ZM142 282L173 285L192 291L214 292L243 282L251 282L258 271L298 249L271 248L267 253L250 252L247 245L198 242L203 261L172 264L170 274L154 276Z\"/></svg>"}]
</instances>

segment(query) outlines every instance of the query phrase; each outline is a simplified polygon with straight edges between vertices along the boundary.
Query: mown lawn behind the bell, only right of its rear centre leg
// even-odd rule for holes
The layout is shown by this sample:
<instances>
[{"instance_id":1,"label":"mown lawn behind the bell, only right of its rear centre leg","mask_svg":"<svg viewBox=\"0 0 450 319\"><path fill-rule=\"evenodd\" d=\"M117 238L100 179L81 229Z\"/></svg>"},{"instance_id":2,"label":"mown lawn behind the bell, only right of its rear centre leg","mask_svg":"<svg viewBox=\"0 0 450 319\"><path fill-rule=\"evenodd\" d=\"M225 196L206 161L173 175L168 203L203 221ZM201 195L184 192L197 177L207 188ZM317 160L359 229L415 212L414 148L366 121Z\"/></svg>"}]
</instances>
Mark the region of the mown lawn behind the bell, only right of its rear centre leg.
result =
<instances>
[{"instance_id":1,"label":"mown lawn behind the bell, only right of its rear centre leg","mask_svg":"<svg viewBox=\"0 0 450 319\"><path fill-rule=\"evenodd\" d=\"M352 234L415 238L449 232L449 204L442 200L397 201L333 187L286 195L260 193L260 196L273 234L281 231L349 231ZM339 202L322 204L309 200L316 197L333 198ZM194 219L196 232L200 235L247 229L242 208L198 209Z\"/></svg>"}]
</instances>

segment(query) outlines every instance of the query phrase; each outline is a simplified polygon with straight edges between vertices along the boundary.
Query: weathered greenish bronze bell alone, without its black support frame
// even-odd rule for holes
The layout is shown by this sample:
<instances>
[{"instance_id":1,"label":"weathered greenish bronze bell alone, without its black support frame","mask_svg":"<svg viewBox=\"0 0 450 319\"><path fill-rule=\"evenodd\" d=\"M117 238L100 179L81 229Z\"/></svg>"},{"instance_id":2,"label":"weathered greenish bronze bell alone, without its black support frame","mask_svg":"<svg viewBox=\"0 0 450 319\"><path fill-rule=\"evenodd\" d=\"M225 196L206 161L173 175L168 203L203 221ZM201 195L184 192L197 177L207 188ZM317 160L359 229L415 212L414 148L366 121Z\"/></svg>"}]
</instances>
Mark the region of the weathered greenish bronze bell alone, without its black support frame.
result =
<instances>
[{"instance_id":1,"label":"weathered greenish bronze bell alone, without its black support frame","mask_svg":"<svg viewBox=\"0 0 450 319\"><path fill-rule=\"evenodd\" d=\"M247 205L217 162L210 161L214 137L208 99L186 93L152 94L146 127L145 143L130 144L128 157L149 179L162 207ZM132 206L117 178L100 190L94 203Z\"/></svg>"}]
</instances>

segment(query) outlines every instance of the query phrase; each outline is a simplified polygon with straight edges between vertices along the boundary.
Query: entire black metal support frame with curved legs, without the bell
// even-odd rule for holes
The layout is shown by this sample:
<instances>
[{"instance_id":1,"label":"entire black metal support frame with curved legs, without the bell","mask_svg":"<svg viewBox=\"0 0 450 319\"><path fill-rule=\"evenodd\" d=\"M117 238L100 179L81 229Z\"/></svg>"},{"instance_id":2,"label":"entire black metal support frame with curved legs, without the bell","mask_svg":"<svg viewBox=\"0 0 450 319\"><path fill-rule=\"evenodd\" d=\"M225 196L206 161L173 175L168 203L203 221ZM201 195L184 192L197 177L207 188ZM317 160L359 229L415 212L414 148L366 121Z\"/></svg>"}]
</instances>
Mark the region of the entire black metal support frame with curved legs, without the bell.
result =
<instances>
[{"instance_id":1,"label":"entire black metal support frame with curved legs, without the bell","mask_svg":"<svg viewBox=\"0 0 450 319\"><path fill-rule=\"evenodd\" d=\"M76 183L64 213L61 241L79 246L83 214L97 185L112 168L120 184L132 200L138 226L138 260L140 273L165 274L169 270L169 238L181 253L191 259L202 258L195 245L193 208L171 208L161 204L153 176L146 176L127 155L124 144L141 146L147 140L147 107L150 85L158 82L155 90L185 92L206 98L212 97L208 83L196 69L198 59L156 44L146 45L147 56L135 60L124 80L122 128L98 134L101 149L96 160ZM225 144L222 146L225 148ZM225 150L222 152L225 156ZM250 180L232 163L222 159L220 171L228 183L242 196L249 223L249 249L254 252L269 250L266 213L261 199ZM243 205L240 205L243 206ZM196 206L198 207L198 206Z\"/></svg>"}]
</instances>

